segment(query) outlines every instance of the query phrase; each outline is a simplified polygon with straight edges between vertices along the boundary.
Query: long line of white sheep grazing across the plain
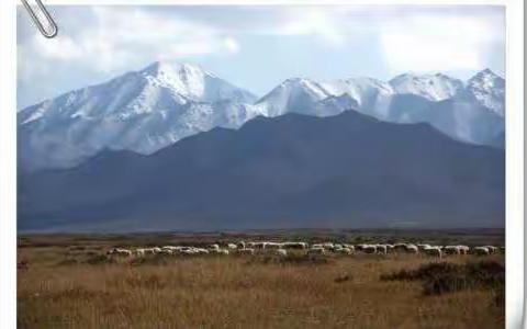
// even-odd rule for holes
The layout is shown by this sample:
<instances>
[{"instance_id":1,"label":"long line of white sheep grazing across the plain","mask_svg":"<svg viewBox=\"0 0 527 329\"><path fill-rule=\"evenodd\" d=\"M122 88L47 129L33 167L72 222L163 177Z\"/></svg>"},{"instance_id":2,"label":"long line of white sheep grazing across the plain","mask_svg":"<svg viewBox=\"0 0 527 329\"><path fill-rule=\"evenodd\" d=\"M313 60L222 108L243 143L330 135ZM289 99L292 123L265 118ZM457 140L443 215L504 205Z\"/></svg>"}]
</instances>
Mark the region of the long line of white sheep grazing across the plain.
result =
<instances>
[{"instance_id":1,"label":"long line of white sheep grazing across the plain","mask_svg":"<svg viewBox=\"0 0 527 329\"><path fill-rule=\"evenodd\" d=\"M110 256L123 256L123 257L145 257L148 254L255 254L257 252L270 252L280 257L287 257L288 251L296 249L303 250L306 254L326 254L328 252L337 254L354 254L356 252L363 253L379 253L388 254L393 252L403 253L423 253L430 257L442 258L445 254L492 254L497 252L505 252L505 247L494 246L480 246L468 247L462 245L457 246L430 246L424 243L379 243L379 245L348 245L348 243L314 243L307 242L244 242L226 243L220 246L218 243L210 245L206 248L189 247L189 246L165 246L154 248L136 248L136 249L122 249L113 248L108 251Z\"/></svg>"}]
</instances>

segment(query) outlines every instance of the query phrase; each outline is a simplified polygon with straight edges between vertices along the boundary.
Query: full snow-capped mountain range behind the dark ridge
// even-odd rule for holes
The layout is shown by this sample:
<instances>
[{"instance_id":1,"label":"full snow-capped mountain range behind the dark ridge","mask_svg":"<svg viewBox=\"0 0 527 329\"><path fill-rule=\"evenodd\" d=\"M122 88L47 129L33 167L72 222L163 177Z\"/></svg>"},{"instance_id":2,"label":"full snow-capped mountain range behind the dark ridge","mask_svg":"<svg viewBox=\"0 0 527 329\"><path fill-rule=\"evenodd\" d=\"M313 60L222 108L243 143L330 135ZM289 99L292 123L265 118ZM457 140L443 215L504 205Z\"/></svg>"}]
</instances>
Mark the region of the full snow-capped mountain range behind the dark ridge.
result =
<instances>
[{"instance_id":1,"label":"full snow-capped mountain range behind the dark ridge","mask_svg":"<svg viewBox=\"0 0 527 329\"><path fill-rule=\"evenodd\" d=\"M154 63L20 111L19 168L72 168L105 149L152 155L257 116L349 110L391 123L428 123L453 139L503 148L504 90L505 80L485 69L467 82L442 73L390 81L293 78L258 98L197 65Z\"/></svg>"}]
</instances>

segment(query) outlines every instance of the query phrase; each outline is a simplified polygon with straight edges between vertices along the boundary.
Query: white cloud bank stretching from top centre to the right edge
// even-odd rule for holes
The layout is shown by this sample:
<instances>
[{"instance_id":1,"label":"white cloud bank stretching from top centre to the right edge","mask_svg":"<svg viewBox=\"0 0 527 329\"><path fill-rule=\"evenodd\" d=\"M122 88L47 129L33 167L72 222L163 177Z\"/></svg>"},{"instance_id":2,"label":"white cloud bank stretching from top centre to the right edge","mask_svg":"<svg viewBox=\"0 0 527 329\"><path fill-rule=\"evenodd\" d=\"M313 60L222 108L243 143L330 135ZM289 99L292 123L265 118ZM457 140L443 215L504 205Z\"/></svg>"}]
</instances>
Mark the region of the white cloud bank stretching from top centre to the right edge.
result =
<instances>
[{"instance_id":1,"label":"white cloud bank stretching from top centre to the right edge","mask_svg":"<svg viewBox=\"0 0 527 329\"><path fill-rule=\"evenodd\" d=\"M272 19L229 23L245 33L314 36L325 46L343 46L358 36L378 39L397 70L480 68L490 44L504 37L504 11L498 8L427 5L284 7ZM245 24L245 26L244 26ZM416 53L421 53L417 56ZM415 66L413 66L415 65ZM412 67L413 66L413 67Z\"/></svg>"}]
</instances>

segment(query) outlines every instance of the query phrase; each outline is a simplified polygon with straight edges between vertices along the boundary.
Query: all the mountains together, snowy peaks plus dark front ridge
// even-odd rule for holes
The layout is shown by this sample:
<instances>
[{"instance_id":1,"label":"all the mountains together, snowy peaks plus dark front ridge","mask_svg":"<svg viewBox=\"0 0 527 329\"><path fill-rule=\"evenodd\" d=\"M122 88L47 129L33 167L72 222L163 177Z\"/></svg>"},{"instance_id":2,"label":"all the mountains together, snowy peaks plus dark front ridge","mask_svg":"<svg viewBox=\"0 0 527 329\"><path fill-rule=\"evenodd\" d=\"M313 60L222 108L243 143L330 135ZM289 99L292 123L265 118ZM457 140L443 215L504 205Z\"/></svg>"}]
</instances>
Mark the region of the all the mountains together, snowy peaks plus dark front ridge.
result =
<instances>
[{"instance_id":1,"label":"all the mountains together, snowy peaks plus dark front ridge","mask_svg":"<svg viewBox=\"0 0 527 329\"><path fill-rule=\"evenodd\" d=\"M155 63L22 110L19 229L503 227L505 80Z\"/></svg>"}]
</instances>

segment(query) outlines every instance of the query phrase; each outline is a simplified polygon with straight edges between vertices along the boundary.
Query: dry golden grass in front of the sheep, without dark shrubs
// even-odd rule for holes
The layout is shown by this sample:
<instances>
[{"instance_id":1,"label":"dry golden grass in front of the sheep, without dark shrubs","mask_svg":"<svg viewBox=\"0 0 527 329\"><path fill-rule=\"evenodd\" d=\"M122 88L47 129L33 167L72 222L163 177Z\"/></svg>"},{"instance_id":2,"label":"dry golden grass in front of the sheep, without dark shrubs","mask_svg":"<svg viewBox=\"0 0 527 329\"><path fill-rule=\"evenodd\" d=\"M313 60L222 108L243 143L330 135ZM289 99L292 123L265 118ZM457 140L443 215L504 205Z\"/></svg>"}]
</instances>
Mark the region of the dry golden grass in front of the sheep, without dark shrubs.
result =
<instances>
[{"instance_id":1,"label":"dry golden grass in front of the sheep, without dark shrubs","mask_svg":"<svg viewBox=\"0 0 527 329\"><path fill-rule=\"evenodd\" d=\"M65 264L66 250L19 249L19 259L29 261L18 274L20 328L504 327L504 306L495 305L492 291L425 296L419 282L379 279L431 261L424 257L357 254L316 264L232 256Z\"/></svg>"}]
</instances>

